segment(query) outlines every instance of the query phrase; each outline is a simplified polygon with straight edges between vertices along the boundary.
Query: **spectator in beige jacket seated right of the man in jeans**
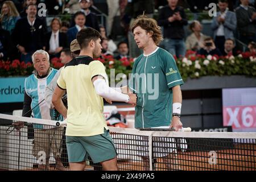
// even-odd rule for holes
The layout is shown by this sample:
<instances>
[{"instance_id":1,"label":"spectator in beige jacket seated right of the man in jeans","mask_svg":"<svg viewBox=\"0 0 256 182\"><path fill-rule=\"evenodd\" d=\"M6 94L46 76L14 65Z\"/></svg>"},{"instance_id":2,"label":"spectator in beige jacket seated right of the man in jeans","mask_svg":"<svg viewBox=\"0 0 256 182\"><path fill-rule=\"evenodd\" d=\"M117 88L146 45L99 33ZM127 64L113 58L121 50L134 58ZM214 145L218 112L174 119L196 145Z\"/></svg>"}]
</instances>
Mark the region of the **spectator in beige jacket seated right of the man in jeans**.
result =
<instances>
[{"instance_id":1,"label":"spectator in beige jacket seated right of the man in jeans","mask_svg":"<svg viewBox=\"0 0 256 182\"><path fill-rule=\"evenodd\" d=\"M187 50L198 51L204 47L204 39L207 36L201 33L202 26L197 20L189 25L189 29L192 31L192 34L186 39L186 48Z\"/></svg>"}]
</instances>

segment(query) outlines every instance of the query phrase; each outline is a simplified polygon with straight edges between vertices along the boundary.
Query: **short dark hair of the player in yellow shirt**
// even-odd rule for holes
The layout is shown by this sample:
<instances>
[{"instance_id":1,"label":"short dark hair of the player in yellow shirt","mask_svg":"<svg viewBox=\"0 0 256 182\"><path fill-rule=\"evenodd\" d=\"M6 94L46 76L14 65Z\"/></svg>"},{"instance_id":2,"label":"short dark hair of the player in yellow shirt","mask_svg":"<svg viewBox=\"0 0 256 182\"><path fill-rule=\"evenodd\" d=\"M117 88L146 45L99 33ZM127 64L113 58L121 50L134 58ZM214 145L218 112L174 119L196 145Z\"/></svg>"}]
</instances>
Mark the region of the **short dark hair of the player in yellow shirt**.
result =
<instances>
[{"instance_id":1,"label":"short dark hair of the player in yellow shirt","mask_svg":"<svg viewBox=\"0 0 256 182\"><path fill-rule=\"evenodd\" d=\"M80 48L86 48L91 40L96 42L97 39L101 39L101 34L93 28L82 28L76 35L77 42Z\"/></svg>"}]
</instances>

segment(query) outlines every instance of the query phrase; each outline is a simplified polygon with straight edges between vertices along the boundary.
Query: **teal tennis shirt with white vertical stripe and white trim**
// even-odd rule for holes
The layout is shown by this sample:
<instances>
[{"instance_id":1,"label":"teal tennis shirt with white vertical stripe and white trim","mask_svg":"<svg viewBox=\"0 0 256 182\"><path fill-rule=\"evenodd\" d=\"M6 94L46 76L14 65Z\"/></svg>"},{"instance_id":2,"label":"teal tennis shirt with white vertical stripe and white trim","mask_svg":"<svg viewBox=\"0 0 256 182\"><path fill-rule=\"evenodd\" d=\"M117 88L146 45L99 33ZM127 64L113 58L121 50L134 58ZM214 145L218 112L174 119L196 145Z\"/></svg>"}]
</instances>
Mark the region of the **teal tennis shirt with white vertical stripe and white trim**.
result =
<instances>
[{"instance_id":1,"label":"teal tennis shirt with white vertical stripe and white trim","mask_svg":"<svg viewBox=\"0 0 256 182\"><path fill-rule=\"evenodd\" d=\"M137 94L135 128L170 126L172 87L184 84L174 57L162 48L139 56L130 75L129 89Z\"/></svg>"}]
</instances>

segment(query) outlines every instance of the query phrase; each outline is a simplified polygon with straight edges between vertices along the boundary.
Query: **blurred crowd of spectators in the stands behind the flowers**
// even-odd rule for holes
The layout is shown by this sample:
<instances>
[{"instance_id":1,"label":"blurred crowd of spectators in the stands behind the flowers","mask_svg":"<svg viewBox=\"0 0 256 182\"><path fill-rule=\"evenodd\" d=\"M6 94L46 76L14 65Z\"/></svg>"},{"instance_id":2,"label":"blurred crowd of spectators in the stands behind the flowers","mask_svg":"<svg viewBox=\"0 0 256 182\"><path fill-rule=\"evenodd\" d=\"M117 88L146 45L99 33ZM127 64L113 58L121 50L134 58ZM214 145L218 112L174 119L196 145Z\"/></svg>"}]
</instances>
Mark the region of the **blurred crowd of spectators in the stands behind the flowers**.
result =
<instances>
[{"instance_id":1,"label":"blurred crowd of spectators in the stands behind the flowers","mask_svg":"<svg viewBox=\"0 0 256 182\"><path fill-rule=\"evenodd\" d=\"M41 2L46 4L46 16L39 15L44 13L38 7ZM207 9L211 2L218 4L217 16L212 18L210 26L212 37L202 33L200 21L188 21L185 11L189 8L196 14ZM108 5L105 24L101 24L99 11L95 11L95 6L102 3ZM200 55L236 56L238 51L245 51L237 46L238 42L246 45L246 51L255 52L256 49L254 0L200 3L188 0L16 0L0 1L0 5L1 60L19 59L32 63L31 56L38 49L47 51L50 59L60 57L61 51L76 39L77 32L86 27L100 31L102 55L113 55L116 59L137 57L141 51L134 42L130 24L143 13L156 17L164 36L160 47L176 57L184 57L188 50ZM61 16L69 14L70 19L61 21ZM47 23L49 17L51 21ZM187 27L190 35L185 34ZM121 37L115 36L119 28L123 32Z\"/></svg>"}]
</instances>

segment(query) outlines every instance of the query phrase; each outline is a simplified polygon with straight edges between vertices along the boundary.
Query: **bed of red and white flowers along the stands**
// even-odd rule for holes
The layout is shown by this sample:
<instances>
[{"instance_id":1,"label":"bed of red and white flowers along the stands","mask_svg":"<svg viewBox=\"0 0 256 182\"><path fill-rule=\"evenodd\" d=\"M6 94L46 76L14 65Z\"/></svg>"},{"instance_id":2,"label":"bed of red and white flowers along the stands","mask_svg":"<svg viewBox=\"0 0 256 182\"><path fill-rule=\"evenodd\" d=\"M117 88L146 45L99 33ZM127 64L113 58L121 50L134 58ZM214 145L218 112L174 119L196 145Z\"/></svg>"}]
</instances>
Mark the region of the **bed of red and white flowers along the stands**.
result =
<instances>
[{"instance_id":1,"label":"bed of red and white flowers along the stands","mask_svg":"<svg viewBox=\"0 0 256 182\"><path fill-rule=\"evenodd\" d=\"M131 73L134 59L115 60L113 56L104 56L100 60L106 67L106 73L110 76L110 69L115 69L114 73L124 73L126 76ZM184 80L190 78L199 78L202 76L230 76L245 75L256 76L256 54L244 52L234 56L203 56L196 55L193 51L188 51L183 59L176 59L177 67ZM60 59L51 60L51 67L59 69L63 67ZM28 76L32 73L34 67L31 63L25 64L19 60L0 61L0 76Z\"/></svg>"}]
</instances>

